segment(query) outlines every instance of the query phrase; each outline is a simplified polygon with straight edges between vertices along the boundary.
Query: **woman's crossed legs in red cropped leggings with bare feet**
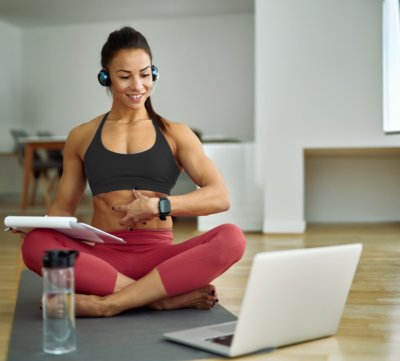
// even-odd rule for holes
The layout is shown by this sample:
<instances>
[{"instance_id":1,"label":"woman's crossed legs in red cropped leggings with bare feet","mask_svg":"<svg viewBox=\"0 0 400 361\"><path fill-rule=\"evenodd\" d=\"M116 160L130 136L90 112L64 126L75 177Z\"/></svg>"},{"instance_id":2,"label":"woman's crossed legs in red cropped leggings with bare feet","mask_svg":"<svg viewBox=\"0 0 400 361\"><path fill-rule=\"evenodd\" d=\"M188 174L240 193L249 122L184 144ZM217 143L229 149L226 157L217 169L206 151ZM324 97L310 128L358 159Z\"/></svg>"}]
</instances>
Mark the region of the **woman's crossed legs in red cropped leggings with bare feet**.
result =
<instances>
[{"instance_id":1,"label":"woman's crossed legs in red cropped leggings with bare feet","mask_svg":"<svg viewBox=\"0 0 400 361\"><path fill-rule=\"evenodd\" d=\"M155 309L211 308L218 299L216 288L209 282L238 261L245 248L243 233L236 226L222 225L178 245L156 247L150 258L158 257L160 263L155 268L150 265L151 271L144 271L144 276L134 280L100 259L100 247L51 230L31 233L22 245L22 257L38 274L45 249L80 251L75 263L75 310L81 316L112 316L144 305ZM145 253L140 254L140 260ZM112 262L118 263L115 259ZM91 294L79 294L81 290Z\"/></svg>"}]
</instances>

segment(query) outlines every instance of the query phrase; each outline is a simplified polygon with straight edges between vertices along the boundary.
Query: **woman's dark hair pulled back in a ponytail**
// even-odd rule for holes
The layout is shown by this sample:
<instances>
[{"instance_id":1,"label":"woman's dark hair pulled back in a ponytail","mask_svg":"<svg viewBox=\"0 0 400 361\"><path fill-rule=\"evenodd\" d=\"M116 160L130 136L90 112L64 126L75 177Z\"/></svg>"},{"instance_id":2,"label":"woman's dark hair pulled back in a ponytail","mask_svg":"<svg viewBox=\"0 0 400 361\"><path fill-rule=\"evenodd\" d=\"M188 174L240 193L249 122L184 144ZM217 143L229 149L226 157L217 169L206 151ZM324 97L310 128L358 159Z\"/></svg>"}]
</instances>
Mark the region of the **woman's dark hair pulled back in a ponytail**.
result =
<instances>
[{"instance_id":1,"label":"woman's dark hair pulled back in a ponytail","mask_svg":"<svg viewBox=\"0 0 400 361\"><path fill-rule=\"evenodd\" d=\"M108 70L108 66L116 53L121 50L134 49L143 50L150 57L150 62L152 63L153 57L151 55L150 47L141 33L130 27L123 27L119 30L115 30L108 36L107 41L101 49L101 67ZM107 90L110 90L110 88L108 87ZM154 112L154 109L151 106L150 97L148 97L144 102L144 107L149 116L154 119L155 123L158 124L161 130L168 133L165 127L167 124L157 113Z\"/></svg>"}]
</instances>

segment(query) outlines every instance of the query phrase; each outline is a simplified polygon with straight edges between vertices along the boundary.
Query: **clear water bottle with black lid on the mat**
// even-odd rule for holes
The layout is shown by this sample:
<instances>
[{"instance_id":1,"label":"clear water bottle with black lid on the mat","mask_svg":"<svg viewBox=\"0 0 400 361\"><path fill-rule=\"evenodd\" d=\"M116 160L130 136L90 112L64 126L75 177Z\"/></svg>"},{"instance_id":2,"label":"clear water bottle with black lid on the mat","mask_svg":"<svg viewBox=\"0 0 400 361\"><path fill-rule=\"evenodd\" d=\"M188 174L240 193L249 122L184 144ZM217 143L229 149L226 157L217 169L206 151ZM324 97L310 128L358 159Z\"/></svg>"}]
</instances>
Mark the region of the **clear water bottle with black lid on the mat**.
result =
<instances>
[{"instance_id":1,"label":"clear water bottle with black lid on the mat","mask_svg":"<svg viewBox=\"0 0 400 361\"><path fill-rule=\"evenodd\" d=\"M53 249L42 258L43 351L61 354L76 349L73 262L78 251Z\"/></svg>"}]
</instances>

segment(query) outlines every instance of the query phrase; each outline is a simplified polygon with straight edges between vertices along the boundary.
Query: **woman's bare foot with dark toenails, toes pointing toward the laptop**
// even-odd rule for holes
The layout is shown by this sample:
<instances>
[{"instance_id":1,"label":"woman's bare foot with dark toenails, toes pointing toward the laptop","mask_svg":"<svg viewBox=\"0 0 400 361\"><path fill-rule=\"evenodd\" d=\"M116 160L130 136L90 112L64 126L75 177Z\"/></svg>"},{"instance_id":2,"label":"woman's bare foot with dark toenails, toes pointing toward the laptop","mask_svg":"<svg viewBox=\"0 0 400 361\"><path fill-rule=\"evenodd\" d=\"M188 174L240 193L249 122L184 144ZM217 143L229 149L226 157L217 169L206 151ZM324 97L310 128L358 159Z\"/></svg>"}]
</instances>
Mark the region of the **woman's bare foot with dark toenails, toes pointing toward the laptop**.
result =
<instances>
[{"instance_id":1,"label":"woman's bare foot with dark toenails, toes pointing toward the laptop","mask_svg":"<svg viewBox=\"0 0 400 361\"><path fill-rule=\"evenodd\" d=\"M195 289L194 291L165 297L159 301L148 304L148 307L157 310L177 308L203 308L209 309L218 302L217 290L212 284Z\"/></svg>"}]
</instances>

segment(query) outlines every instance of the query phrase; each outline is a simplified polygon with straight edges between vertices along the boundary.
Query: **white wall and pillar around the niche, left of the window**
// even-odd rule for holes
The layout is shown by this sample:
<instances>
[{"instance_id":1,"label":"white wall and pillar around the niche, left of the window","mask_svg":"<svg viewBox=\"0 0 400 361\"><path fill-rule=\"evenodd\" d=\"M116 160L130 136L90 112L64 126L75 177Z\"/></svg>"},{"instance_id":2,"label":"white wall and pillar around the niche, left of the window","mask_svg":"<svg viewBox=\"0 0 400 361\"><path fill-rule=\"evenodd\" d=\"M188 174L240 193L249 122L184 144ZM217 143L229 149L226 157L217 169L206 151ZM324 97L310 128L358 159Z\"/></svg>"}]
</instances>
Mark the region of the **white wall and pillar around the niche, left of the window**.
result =
<instances>
[{"instance_id":1,"label":"white wall and pillar around the niche, left of the window","mask_svg":"<svg viewBox=\"0 0 400 361\"><path fill-rule=\"evenodd\" d=\"M301 232L303 148L397 146L382 130L381 0L255 1L264 232Z\"/></svg>"}]
</instances>

